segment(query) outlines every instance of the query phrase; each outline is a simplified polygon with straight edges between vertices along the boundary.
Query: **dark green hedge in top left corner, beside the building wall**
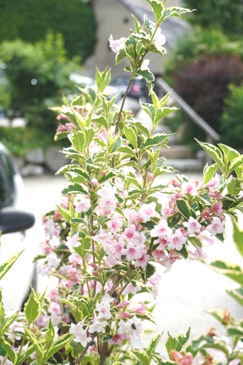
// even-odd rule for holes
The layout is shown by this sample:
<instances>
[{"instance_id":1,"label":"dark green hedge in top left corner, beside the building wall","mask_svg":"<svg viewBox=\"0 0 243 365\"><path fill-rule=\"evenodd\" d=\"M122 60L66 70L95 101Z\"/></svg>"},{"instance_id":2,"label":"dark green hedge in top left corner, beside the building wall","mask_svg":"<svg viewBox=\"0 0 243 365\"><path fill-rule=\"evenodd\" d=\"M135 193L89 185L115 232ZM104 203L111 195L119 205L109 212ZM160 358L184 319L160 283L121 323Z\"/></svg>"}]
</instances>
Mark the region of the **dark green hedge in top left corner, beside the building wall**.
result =
<instances>
[{"instance_id":1,"label":"dark green hedge in top left corner, beside the building wall","mask_svg":"<svg viewBox=\"0 0 243 365\"><path fill-rule=\"evenodd\" d=\"M93 9L83 0L0 0L0 43L34 43L47 31L61 33L68 56L87 58L95 45Z\"/></svg>"}]
</instances>

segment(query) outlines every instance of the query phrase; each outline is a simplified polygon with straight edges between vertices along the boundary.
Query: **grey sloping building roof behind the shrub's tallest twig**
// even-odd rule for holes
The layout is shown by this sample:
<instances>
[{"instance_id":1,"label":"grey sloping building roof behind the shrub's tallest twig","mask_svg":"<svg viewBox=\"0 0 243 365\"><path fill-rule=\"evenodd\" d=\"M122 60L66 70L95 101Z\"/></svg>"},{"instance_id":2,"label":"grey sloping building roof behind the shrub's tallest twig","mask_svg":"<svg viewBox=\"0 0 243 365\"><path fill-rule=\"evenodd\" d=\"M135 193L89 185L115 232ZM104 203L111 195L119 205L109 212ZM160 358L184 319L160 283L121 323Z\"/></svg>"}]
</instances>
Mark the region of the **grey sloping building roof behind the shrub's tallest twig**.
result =
<instances>
[{"instance_id":1,"label":"grey sloping building roof behind the shrub's tallest twig","mask_svg":"<svg viewBox=\"0 0 243 365\"><path fill-rule=\"evenodd\" d=\"M118 0L120 3L124 4L133 15L143 22L143 17L146 14L151 20L154 20L154 15L151 11L150 5L146 0ZM181 37L183 33L190 29L188 23L178 17L170 17L164 23L160 25L161 34L166 37L166 44L171 49L176 48L176 40Z\"/></svg>"}]
</instances>

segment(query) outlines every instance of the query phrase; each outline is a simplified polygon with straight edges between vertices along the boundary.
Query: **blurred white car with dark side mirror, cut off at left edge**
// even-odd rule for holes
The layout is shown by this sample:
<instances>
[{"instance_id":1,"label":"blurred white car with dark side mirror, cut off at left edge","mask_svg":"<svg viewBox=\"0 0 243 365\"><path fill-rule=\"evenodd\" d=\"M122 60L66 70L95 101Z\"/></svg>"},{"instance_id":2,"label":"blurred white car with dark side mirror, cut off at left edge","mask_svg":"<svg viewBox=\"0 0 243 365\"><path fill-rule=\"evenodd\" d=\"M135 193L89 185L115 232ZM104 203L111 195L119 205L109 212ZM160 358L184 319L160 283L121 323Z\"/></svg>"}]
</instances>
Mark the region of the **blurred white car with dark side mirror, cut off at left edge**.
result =
<instances>
[{"instance_id":1,"label":"blurred white car with dark side mirror, cut off at left edge","mask_svg":"<svg viewBox=\"0 0 243 365\"><path fill-rule=\"evenodd\" d=\"M3 234L0 249L1 264L25 247L24 232L34 224L33 214L17 209L20 206L22 192L21 175L8 150L0 142L0 231ZM9 307L8 309L14 307L15 303L17 305L22 303L29 289L29 282L33 281L31 277L32 263L26 261L21 263L20 260L20 267L18 267L19 260L20 258L1 280L3 300L7 304L7 308ZM15 265L17 266L15 267ZM14 286L11 287L14 282L18 286L18 290L14 289ZM21 298L18 298L17 292Z\"/></svg>"}]
</instances>

